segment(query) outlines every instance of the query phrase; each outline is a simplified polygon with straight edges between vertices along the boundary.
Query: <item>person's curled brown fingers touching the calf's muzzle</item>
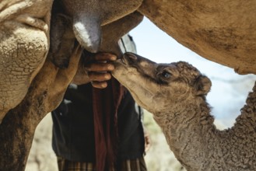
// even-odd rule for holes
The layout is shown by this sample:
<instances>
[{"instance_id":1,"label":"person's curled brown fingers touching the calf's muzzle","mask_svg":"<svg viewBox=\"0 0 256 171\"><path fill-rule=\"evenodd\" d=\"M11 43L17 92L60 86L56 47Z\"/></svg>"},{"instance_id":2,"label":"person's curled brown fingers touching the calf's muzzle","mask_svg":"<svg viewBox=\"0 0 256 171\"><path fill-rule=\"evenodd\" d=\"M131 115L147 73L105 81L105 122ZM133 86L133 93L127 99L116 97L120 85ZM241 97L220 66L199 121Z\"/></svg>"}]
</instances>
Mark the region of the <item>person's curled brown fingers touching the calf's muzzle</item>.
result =
<instances>
[{"instance_id":1,"label":"person's curled brown fingers touching the calf's muzzle","mask_svg":"<svg viewBox=\"0 0 256 171\"><path fill-rule=\"evenodd\" d=\"M88 72L89 82L93 87L103 89L107 87L107 80L111 79L110 72L114 70L112 61L117 60L117 56L110 53L98 53L93 61L85 65Z\"/></svg>"}]
</instances>

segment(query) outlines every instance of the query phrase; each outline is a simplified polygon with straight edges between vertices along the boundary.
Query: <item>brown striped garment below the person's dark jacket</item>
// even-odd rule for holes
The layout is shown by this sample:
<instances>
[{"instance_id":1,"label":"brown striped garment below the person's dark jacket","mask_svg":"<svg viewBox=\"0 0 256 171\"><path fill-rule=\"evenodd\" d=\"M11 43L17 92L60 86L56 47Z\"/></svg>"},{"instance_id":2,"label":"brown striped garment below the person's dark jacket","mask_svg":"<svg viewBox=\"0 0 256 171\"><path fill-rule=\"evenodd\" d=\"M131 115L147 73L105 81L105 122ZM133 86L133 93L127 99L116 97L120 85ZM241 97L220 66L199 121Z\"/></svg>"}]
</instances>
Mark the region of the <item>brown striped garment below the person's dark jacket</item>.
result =
<instances>
[{"instance_id":1,"label":"brown striped garment below the person's dark jacket","mask_svg":"<svg viewBox=\"0 0 256 171\"><path fill-rule=\"evenodd\" d=\"M96 171L96 165L92 162L72 162L58 157L59 171ZM121 163L121 169L111 168L109 171L146 171L144 158L125 160Z\"/></svg>"}]
</instances>

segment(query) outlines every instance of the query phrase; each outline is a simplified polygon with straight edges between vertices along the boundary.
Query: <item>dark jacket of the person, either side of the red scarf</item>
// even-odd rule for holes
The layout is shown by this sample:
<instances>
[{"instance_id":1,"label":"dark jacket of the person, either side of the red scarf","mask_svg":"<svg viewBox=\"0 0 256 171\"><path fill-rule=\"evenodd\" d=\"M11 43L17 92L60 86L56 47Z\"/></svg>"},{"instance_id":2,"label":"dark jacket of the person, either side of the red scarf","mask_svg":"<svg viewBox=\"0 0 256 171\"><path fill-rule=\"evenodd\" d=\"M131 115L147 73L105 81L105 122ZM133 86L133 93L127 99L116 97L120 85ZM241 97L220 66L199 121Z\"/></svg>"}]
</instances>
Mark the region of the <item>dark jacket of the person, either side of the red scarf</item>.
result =
<instances>
[{"instance_id":1,"label":"dark jacket of the person, either side of the red scarf","mask_svg":"<svg viewBox=\"0 0 256 171\"><path fill-rule=\"evenodd\" d=\"M60 106L52 112L56 155L75 162L95 162L92 86L68 87ZM127 91L117 113L119 144L117 159L136 159L144 152L141 116Z\"/></svg>"}]
</instances>

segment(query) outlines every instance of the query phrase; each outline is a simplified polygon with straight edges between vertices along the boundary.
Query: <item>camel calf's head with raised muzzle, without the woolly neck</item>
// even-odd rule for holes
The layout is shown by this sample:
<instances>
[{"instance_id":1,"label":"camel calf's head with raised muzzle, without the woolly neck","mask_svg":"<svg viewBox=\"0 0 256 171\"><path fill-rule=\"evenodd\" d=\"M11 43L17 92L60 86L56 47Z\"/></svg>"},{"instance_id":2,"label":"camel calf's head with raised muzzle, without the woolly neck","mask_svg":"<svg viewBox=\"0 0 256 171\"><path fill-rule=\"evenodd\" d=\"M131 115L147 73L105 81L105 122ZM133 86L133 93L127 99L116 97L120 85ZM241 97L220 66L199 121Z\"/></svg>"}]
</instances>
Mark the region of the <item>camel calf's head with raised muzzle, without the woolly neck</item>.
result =
<instances>
[{"instance_id":1,"label":"camel calf's head with raised muzzle, without the woolly neck","mask_svg":"<svg viewBox=\"0 0 256 171\"><path fill-rule=\"evenodd\" d=\"M137 54L126 53L112 72L140 106L152 113L205 97L211 81L187 62L157 64Z\"/></svg>"}]
</instances>

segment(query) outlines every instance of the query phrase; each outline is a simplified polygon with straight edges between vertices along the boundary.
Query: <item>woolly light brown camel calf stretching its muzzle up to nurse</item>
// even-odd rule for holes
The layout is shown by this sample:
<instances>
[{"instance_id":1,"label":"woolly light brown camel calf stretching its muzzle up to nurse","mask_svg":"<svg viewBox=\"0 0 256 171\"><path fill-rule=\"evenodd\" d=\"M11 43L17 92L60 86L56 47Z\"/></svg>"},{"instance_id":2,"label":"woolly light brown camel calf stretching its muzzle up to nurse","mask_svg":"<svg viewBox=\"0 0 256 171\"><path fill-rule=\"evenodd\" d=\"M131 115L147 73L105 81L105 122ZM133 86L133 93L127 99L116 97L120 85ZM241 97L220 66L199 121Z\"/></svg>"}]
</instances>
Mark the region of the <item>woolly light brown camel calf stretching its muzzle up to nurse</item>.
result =
<instances>
[{"instance_id":1,"label":"woolly light brown camel calf stretching its muzzle up to nurse","mask_svg":"<svg viewBox=\"0 0 256 171\"><path fill-rule=\"evenodd\" d=\"M187 62L157 64L126 53L112 75L153 113L188 171L256 170L256 86L233 127L220 131L205 99L212 83Z\"/></svg>"}]
</instances>

